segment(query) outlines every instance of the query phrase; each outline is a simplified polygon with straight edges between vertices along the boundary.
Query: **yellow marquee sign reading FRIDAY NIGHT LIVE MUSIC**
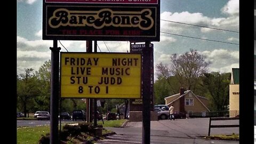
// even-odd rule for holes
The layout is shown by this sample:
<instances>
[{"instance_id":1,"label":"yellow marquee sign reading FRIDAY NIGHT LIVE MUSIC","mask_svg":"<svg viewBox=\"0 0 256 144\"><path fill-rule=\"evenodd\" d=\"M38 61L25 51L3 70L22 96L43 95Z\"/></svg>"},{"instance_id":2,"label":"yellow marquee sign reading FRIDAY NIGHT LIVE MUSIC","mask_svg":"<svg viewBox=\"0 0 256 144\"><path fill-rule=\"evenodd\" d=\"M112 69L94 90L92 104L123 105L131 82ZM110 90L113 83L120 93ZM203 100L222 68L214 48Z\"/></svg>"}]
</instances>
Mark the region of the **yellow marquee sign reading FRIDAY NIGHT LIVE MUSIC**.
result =
<instances>
[{"instance_id":1,"label":"yellow marquee sign reading FRIDAY NIGHT LIVE MUSIC","mask_svg":"<svg viewBox=\"0 0 256 144\"><path fill-rule=\"evenodd\" d=\"M61 52L61 98L141 98L141 54Z\"/></svg>"}]
</instances>

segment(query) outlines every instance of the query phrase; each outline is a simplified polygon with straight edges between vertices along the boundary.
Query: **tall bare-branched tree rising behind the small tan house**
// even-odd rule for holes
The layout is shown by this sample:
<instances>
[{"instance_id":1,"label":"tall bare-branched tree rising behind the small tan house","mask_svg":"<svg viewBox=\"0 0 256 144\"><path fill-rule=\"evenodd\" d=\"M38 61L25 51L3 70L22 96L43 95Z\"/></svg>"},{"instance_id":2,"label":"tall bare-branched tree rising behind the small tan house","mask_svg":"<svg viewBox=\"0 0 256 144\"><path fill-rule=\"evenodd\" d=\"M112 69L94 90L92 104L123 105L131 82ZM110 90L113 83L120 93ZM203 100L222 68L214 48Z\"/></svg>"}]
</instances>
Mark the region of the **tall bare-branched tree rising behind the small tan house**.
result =
<instances>
[{"instance_id":1,"label":"tall bare-branched tree rising behind the small tan house","mask_svg":"<svg viewBox=\"0 0 256 144\"><path fill-rule=\"evenodd\" d=\"M205 61L205 56L196 50L190 50L184 54L177 53L171 56L171 74L177 76L182 87L195 91L198 77L207 72L210 62Z\"/></svg>"}]
</instances>

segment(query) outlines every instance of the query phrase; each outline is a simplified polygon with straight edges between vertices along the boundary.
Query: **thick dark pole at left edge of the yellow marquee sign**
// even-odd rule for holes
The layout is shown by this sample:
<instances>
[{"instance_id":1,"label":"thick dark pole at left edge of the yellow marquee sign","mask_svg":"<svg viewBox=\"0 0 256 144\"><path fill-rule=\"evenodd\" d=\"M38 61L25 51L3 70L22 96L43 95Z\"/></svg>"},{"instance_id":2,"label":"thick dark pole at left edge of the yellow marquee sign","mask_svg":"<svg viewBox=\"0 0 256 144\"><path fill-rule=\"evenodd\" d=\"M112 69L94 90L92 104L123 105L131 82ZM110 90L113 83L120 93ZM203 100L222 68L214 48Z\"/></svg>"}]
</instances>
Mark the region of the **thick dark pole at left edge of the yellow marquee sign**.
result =
<instances>
[{"instance_id":1,"label":"thick dark pole at left edge of the yellow marquee sign","mask_svg":"<svg viewBox=\"0 0 256 144\"><path fill-rule=\"evenodd\" d=\"M51 52L51 113L50 113L50 143L59 143L58 138L58 107L59 107L59 60L60 47L57 39L53 40Z\"/></svg>"}]
</instances>

